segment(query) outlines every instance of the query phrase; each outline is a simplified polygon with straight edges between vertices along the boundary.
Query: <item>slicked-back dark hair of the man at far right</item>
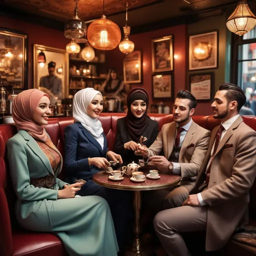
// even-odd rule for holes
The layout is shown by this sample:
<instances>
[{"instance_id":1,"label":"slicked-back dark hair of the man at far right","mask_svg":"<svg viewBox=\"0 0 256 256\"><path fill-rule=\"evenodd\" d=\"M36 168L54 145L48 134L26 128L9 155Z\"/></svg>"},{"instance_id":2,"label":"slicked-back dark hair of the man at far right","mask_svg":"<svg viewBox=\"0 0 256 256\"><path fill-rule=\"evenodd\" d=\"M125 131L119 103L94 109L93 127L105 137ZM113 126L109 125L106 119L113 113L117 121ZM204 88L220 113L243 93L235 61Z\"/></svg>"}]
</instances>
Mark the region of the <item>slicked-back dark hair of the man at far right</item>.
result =
<instances>
[{"instance_id":1,"label":"slicked-back dark hair of the man at far right","mask_svg":"<svg viewBox=\"0 0 256 256\"><path fill-rule=\"evenodd\" d=\"M229 82L222 82L219 84L218 90L227 90L225 97L228 102L231 102L233 100L237 101L238 112L246 102L246 97L243 90L235 84Z\"/></svg>"}]
</instances>

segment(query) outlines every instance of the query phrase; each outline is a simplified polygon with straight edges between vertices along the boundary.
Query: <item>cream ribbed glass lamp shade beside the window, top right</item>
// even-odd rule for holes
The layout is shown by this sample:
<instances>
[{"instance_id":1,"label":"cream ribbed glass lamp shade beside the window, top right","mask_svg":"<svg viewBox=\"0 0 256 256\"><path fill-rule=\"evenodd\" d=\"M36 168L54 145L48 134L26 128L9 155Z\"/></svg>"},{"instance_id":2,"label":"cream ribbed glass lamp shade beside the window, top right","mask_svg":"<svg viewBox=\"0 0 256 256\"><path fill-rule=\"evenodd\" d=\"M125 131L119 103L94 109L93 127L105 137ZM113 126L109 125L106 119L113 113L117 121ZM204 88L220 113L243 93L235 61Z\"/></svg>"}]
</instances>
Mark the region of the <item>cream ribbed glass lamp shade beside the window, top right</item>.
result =
<instances>
[{"instance_id":1,"label":"cream ribbed glass lamp shade beside the window, top right","mask_svg":"<svg viewBox=\"0 0 256 256\"><path fill-rule=\"evenodd\" d=\"M226 21L227 28L238 35L243 35L253 29L256 16L251 12L246 0L241 0Z\"/></svg>"}]
</instances>

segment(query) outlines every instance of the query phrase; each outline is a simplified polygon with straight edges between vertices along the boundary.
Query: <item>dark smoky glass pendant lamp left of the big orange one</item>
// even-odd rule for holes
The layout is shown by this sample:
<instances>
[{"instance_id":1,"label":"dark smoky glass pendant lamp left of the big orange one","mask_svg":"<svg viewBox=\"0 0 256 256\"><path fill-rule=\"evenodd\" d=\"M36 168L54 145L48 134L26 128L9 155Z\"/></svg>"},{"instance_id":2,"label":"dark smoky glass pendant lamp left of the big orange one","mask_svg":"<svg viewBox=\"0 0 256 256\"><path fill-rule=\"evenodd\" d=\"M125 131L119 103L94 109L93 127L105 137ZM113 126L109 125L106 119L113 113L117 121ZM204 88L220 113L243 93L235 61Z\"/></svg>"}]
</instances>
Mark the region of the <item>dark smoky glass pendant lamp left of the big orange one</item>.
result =
<instances>
[{"instance_id":1,"label":"dark smoky glass pendant lamp left of the big orange one","mask_svg":"<svg viewBox=\"0 0 256 256\"><path fill-rule=\"evenodd\" d=\"M67 38L74 39L75 42L87 42L87 39L85 38L87 32L86 24L78 17L78 1L79 0L74 0L74 16L65 23L64 35Z\"/></svg>"}]
</instances>

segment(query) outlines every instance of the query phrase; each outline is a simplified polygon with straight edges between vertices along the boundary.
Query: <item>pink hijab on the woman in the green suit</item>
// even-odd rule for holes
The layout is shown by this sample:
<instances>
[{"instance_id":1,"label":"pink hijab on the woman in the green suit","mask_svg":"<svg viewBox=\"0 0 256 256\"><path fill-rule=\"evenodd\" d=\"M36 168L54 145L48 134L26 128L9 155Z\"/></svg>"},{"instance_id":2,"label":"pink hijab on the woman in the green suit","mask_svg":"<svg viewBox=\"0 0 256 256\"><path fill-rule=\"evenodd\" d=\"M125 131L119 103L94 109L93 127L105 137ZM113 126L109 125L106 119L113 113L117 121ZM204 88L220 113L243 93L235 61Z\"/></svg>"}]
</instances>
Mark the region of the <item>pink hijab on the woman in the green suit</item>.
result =
<instances>
[{"instance_id":1,"label":"pink hijab on the woman in the green suit","mask_svg":"<svg viewBox=\"0 0 256 256\"><path fill-rule=\"evenodd\" d=\"M34 139L46 141L47 134L43 125L33 120L34 109L42 96L48 94L38 89L28 89L20 92L13 100L12 117L17 130L26 130Z\"/></svg>"}]
</instances>

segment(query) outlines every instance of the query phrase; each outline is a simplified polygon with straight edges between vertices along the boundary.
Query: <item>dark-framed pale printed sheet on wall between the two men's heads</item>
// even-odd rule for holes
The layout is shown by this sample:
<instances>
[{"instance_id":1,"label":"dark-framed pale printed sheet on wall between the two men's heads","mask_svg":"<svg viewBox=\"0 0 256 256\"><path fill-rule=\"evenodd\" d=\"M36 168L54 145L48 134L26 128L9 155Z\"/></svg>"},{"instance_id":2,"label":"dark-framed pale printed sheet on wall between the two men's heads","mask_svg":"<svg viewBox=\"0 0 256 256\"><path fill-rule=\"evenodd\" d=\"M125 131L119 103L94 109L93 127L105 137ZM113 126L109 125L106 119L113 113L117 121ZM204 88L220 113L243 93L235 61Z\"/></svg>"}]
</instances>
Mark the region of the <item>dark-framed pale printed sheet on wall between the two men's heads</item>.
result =
<instances>
[{"instance_id":1,"label":"dark-framed pale printed sheet on wall between the two men's heads","mask_svg":"<svg viewBox=\"0 0 256 256\"><path fill-rule=\"evenodd\" d=\"M189 91L197 101L209 101L213 98L214 72L193 73L189 75Z\"/></svg>"}]
</instances>

